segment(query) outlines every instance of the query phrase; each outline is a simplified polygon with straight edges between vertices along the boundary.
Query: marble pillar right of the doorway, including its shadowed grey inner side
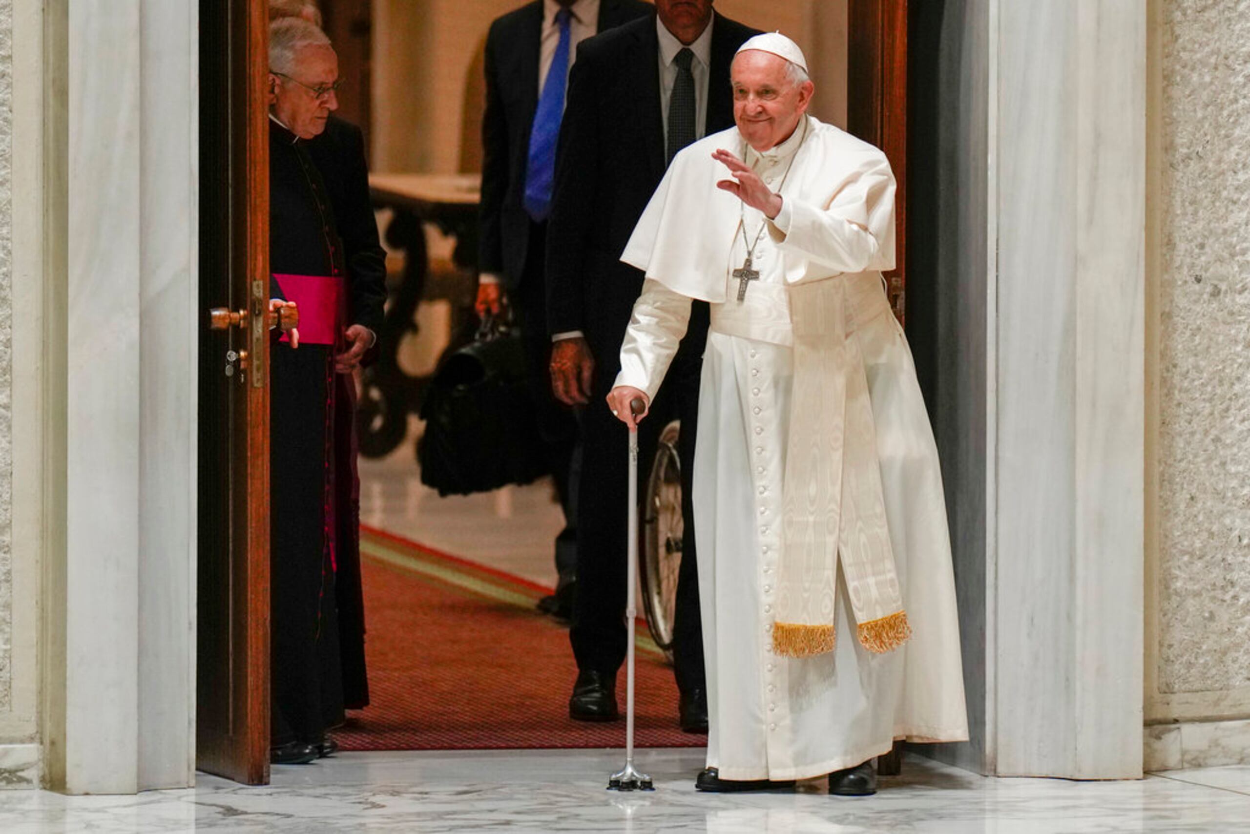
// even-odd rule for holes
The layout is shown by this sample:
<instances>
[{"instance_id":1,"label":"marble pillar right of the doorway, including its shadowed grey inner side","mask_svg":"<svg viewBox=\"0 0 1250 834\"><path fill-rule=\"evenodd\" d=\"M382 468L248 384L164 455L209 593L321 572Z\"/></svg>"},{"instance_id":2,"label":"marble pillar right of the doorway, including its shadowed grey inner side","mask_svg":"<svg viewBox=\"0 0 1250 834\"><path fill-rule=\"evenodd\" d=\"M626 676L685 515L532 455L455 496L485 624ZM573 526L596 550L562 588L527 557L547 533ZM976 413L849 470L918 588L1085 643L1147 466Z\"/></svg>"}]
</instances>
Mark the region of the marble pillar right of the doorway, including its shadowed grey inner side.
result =
<instances>
[{"instance_id":1,"label":"marble pillar right of the doorway, including its shadowed grey inner side","mask_svg":"<svg viewBox=\"0 0 1250 834\"><path fill-rule=\"evenodd\" d=\"M1140 776L1145 4L929 14L932 286L911 276L909 313L929 310L972 723L936 755Z\"/></svg>"}]
</instances>

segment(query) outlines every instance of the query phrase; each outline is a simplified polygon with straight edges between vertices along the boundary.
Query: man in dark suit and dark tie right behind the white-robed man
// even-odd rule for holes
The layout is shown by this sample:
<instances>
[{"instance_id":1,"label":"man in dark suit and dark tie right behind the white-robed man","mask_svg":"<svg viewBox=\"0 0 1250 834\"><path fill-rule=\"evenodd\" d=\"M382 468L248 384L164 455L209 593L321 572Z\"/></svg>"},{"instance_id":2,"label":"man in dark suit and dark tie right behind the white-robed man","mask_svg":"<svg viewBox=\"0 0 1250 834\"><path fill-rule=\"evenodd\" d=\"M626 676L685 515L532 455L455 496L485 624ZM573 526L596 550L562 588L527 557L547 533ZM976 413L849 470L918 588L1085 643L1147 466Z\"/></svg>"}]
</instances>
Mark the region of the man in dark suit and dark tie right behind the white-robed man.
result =
<instances>
[{"instance_id":1,"label":"man in dark suit and dark tie right behind the white-robed man","mask_svg":"<svg viewBox=\"0 0 1250 834\"><path fill-rule=\"evenodd\" d=\"M672 156L732 126L729 65L758 34L714 14L712 0L656 0L656 15L581 45L569 84L548 235L551 379L561 401L588 405L578 521L578 596L570 640L578 680L569 714L618 715L616 673L625 658L626 429L604 405L620 370L620 346L642 274L620 263L634 225ZM685 530L674 660L686 731L708 731L690 465L708 308L695 305L681 350L639 429L640 460L659 431L681 419ZM641 480L641 478L640 478Z\"/></svg>"}]
</instances>

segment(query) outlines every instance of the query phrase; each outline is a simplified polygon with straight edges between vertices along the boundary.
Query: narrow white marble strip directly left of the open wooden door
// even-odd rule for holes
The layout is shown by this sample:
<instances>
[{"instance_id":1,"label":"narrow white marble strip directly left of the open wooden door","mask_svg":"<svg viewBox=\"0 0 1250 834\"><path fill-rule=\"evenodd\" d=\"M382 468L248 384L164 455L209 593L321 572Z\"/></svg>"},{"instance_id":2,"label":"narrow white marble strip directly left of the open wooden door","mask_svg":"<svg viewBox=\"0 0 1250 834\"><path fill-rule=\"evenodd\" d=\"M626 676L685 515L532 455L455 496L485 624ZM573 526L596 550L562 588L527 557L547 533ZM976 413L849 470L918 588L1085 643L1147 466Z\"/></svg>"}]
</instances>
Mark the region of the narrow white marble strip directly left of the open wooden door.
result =
<instances>
[{"instance_id":1,"label":"narrow white marble strip directly left of the open wooden door","mask_svg":"<svg viewBox=\"0 0 1250 834\"><path fill-rule=\"evenodd\" d=\"M194 4L144 0L139 786L195 781L199 135Z\"/></svg>"}]
</instances>

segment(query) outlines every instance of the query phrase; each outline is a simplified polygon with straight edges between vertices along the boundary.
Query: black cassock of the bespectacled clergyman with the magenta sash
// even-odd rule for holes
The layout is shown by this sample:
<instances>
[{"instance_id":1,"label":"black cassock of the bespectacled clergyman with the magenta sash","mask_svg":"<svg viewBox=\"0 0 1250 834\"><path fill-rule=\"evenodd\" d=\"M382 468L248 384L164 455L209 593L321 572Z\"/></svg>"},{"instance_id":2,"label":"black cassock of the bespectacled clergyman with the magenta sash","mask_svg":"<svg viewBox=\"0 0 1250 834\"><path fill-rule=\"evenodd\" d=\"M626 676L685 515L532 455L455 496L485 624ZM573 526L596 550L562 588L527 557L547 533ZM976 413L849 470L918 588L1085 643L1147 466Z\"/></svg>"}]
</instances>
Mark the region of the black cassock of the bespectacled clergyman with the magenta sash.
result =
<instances>
[{"instance_id":1,"label":"black cassock of the bespectacled clergyman with the magenta sash","mask_svg":"<svg viewBox=\"0 0 1250 834\"><path fill-rule=\"evenodd\" d=\"M345 280L342 245L320 171L306 144L270 123L269 259L275 276ZM275 278L274 298L291 295ZM342 298L345 294L341 294ZM301 316L311 310L302 309ZM344 718L336 570L339 545L352 533L344 513L344 455L350 436L341 409L350 376L335 374L342 350L346 300L339 305L336 344L272 344L270 359L270 631L274 744L318 743ZM301 320L311 333L312 321ZM339 418L336 420L336 416ZM344 425L346 423L346 425ZM338 453L338 454L336 454ZM348 535L344 536L342 534ZM359 569L359 568L358 568ZM349 613L350 616L350 613Z\"/></svg>"}]
</instances>

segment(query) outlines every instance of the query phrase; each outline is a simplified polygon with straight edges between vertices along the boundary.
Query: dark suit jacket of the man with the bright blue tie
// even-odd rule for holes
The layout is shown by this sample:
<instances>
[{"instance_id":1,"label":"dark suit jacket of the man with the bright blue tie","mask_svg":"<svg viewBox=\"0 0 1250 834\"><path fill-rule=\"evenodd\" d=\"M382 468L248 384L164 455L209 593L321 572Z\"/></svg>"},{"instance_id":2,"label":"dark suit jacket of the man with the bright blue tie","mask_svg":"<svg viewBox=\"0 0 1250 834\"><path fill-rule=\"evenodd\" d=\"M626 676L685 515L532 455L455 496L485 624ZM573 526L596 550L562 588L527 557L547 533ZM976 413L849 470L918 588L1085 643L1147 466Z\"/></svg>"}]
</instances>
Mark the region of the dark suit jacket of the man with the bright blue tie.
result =
<instances>
[{"instance_id":1,"label":"dark suit jacket of the man with the bright blue tie","mask_svg":"<svg viewBox=\"0 0 1250 834\"><path fill-rule=\"evenodd\" d=\"M601 0L599 31L652 11L651 5L639 0ZM530 243L530 216L521 199L525 196L530 129L539 104L541 38L541 0L499 18L486 36L478 268L500 274L508 289L515 289L521 280Z\"/></svg>"}]
</instances>

